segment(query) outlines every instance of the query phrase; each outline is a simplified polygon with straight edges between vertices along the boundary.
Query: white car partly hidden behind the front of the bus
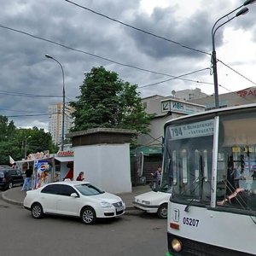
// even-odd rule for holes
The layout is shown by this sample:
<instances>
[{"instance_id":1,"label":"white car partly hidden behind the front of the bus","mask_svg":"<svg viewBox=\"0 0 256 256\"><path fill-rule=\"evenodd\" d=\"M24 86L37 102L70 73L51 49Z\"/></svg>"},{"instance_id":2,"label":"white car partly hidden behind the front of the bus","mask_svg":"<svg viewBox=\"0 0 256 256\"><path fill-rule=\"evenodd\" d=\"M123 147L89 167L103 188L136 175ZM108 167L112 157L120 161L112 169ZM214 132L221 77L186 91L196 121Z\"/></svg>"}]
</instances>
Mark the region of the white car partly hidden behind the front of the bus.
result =
<instances>
[{"instance_id":1,"label":"white car partly hidden behind the front of the bus","mask_svg":"<svg viewBox=\"0 0 256 256\"><path fill-rule=\"evenodd\" d=\"M134 197L134 207L149 213L157 213L159 218L167 218L167 206L172 187L160 188Z\"/></svg>"}]
</instances>

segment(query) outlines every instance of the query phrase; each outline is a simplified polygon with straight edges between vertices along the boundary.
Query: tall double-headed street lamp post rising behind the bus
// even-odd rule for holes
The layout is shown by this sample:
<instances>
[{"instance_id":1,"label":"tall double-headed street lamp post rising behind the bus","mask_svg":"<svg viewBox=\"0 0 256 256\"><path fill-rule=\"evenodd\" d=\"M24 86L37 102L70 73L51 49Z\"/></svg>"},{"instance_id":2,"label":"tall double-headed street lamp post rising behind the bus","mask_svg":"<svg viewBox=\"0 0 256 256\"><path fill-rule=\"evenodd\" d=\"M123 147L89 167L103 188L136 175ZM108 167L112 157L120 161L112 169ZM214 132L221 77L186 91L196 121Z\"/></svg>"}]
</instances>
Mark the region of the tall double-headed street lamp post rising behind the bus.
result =
<instances>
[{"instance_id":1,"label":"tall double-headed street lamp post rising behind the bus","mask_svg":"<svg viewBox=\"0 0 256 256\"><path fill-rule=\"evenodd\" d=\"M217 57L216 57L216 50L215 50L215 33L218 30L219 27L224 26L224 24L230 22L231 20L235 19L236 17L240 16L240 15L245 15L247 14L248 10L247 7L244 7L248 4L254 3L256 0L247 0L245 1L241 6L239 6L236 9L233 9L230 13L228 13L227 15L224 15L222 17L220 17L212 26L212 73L213 73L213 82L214 82L214 96L215 96L215 108L219 108L219 102L218 102L218 73L217 73ZM241 7L244 7L243 9L241 9ZM222 24L220 24L219 26L216 27L216 25L218 24L219 20L224 19L225 17L228 17L230 14L236 12L236 10L241 9L240 11L238 11L236 13L235 16L233 16L232 18L226 20L225 22L223 22Z\"/></svg>"}]
</instances>

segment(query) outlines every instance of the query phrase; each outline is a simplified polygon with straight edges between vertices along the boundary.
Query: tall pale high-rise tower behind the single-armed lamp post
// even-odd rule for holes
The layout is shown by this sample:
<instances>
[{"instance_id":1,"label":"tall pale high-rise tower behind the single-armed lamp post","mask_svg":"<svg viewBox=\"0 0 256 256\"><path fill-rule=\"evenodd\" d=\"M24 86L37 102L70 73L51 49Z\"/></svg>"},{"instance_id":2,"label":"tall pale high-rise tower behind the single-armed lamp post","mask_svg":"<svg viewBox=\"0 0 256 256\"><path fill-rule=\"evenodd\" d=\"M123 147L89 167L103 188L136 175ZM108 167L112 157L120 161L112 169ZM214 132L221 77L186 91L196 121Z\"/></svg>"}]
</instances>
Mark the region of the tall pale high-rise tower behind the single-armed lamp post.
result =
<instances>
[{"instance_id":1,"label":"tall pale high-rise tower behind the single-armed lamp post","mask_svg":"<svg viewBox=\"0 0 256 256\"><path fill-rule=\"evenodd\" d=\"M62 103L50 105L48 107L49 113L49 133L52 136L52 141L56 145L61 143L61 132L62 132ZM64 139L65 135L69 132L69 129L73 125L73 119L71 116L73 108L66 104L65 108L65 119L64 119Z\"/></svg>"}]
</instances>

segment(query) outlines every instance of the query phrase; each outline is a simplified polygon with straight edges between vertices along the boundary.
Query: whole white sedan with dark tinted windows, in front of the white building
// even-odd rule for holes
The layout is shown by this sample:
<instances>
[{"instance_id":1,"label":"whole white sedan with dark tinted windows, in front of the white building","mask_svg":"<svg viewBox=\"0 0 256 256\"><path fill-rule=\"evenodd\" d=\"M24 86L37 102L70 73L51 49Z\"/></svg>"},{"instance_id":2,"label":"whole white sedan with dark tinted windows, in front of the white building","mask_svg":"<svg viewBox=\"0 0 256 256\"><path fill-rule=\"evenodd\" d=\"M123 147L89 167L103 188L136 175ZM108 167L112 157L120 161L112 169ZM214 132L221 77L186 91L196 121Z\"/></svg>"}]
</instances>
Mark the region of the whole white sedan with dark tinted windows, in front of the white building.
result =
<instances>
[{"instance_id":1,"label":"whole white sedan with dark tinted windows, in front of the white building","mask_svg":"<svg viewBox=\"0 0 256 256\"><path fill-rule=\"evenodd\" d=\"M119 196L80 181L49 183L26 191L23 206L32 212L33 218L42 218L44 214L68 215L81 218L84 224L125 213L125 203Z\"/></svg>"}]
</instances>

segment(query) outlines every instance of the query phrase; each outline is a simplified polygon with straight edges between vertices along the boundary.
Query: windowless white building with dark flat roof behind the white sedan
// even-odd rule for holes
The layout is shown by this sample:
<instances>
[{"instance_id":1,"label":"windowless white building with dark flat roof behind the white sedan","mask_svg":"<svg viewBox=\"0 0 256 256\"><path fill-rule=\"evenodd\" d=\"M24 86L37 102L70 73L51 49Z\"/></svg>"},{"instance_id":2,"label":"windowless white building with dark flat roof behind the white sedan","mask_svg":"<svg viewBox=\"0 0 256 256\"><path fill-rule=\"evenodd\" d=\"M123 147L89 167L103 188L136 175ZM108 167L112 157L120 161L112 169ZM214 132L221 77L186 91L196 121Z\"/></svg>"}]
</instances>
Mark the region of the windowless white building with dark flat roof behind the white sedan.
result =
<instances>
[{"instance_id":1,"label":"windowless white building with dark flat roof behind the white sedan","mask_svg":"<svg viewBox=\"0 0 256 256\"><path fill-rule=\"evenodd\" d=\"M74 179L85 180L111 193L131 192L130 143L135 131L96 128L72 132Z\"/></svg>"}]
</instances>

